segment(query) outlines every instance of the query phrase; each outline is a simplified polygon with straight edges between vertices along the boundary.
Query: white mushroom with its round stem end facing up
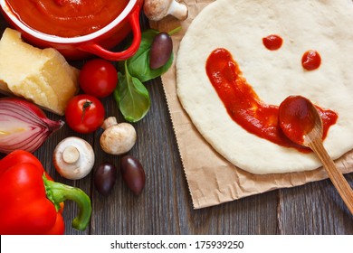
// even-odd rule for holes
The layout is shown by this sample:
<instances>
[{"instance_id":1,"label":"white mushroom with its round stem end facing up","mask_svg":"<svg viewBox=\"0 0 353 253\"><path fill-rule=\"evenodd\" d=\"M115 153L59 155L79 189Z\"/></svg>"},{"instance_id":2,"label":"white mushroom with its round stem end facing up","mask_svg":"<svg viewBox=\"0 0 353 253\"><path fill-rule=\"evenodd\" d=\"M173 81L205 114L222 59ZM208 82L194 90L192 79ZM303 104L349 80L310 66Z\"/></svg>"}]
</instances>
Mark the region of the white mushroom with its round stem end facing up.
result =
<instances>
[{"instance_id":1,"label":"white mushroom with its round stem end facing up","mask_svg":"<svg viewBox=\"0 0 353 253\"><path fill-rule=\"evenodd\" d=\"M91 172L94 152L91 145L79 137L67 137L56 145L53 164L64 178L77 180Z\"/></svg>"}]
</instances>

